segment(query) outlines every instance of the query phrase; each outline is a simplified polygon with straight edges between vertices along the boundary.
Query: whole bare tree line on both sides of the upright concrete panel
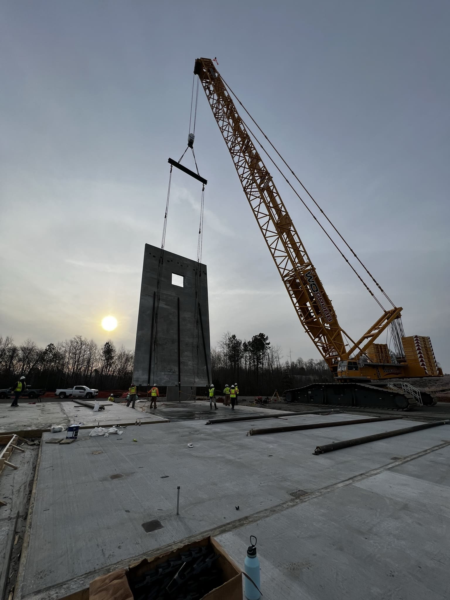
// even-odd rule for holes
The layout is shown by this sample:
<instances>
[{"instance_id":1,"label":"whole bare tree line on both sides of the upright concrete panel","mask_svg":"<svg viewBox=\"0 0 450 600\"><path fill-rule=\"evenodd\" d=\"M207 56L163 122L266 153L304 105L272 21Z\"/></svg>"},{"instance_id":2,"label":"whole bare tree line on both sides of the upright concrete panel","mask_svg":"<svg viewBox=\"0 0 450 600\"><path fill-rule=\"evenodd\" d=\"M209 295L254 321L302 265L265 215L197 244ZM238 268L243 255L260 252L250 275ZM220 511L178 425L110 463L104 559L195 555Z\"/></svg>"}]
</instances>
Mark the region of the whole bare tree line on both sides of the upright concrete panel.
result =
<instances>
[{"instance_id":1,"label":"whole bare tree line on both sides of the upright concrete panel","mask_svg":"<svg viewBox=\"0 0 450 600\"><path fill-rule=\"evenodd\" d=\"M97 389L127 389L133 377L134 354L111 340L98 346L94 340L75 335L70 340L39 347L32 340L14 343L0 336L0 387L9 387L20 376L35 388L53 391L88 385ZM259 333L251 340L223 334L211 349L212 382L221 392L226 383L238 383L241 395L272 395L308 383L329 382L331 373L322 360L283 360L279 346Z\"/></svg>"}]
</instances>

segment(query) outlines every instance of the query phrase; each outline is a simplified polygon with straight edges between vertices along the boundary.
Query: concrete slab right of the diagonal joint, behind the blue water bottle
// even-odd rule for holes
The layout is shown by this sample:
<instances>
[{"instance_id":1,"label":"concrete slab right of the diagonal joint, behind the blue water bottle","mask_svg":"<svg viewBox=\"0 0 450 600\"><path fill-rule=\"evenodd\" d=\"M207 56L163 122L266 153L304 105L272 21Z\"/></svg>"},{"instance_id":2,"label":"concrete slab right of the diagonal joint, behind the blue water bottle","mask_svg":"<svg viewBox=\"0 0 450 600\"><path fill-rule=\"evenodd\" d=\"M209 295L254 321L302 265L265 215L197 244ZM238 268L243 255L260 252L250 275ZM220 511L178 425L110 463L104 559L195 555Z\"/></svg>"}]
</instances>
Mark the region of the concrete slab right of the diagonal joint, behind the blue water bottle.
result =
<instances>
[{"instance_id":1,"label":"concrete slab right of the diagonal joint, behind the blue water bottle","mask_svg":"<svg viewBox=\"0 0 450 600\"><path fill-rule=\"evenodd\" d=\"M263 598L449 598L449 469L428 481L449 461L447 446L217 539L242 565L257 536Z\"/></svg>"}]
</instances>

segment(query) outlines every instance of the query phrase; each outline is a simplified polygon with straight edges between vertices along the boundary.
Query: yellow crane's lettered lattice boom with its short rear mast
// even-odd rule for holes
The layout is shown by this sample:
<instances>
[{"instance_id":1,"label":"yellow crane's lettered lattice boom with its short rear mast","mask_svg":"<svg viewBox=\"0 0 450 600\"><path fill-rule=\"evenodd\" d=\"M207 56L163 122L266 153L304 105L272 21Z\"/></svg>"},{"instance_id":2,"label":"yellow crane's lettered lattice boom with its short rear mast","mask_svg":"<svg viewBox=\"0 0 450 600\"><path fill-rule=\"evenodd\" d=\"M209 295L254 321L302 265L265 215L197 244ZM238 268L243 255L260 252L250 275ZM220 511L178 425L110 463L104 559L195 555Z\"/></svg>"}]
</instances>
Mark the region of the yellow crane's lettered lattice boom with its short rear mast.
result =
<instances>
[{"instance_id":1,"label":"yellow crane's lettered lattice boom with its short rear mast","mask_svg":"<svg viewBox=\"0 0 450 600\"><path fill-rule=\"evenodd\" d=\"M358 359L388 325L400 317L402 309L385 310L356 342L346 334L274 181L211 59L197 59L194 75L199 77L248 203L305 331L332 370L335 371L339 361L352 356ZM352 341L350 348L346 347L344 337Z\"/></svg>"}]
</instances>

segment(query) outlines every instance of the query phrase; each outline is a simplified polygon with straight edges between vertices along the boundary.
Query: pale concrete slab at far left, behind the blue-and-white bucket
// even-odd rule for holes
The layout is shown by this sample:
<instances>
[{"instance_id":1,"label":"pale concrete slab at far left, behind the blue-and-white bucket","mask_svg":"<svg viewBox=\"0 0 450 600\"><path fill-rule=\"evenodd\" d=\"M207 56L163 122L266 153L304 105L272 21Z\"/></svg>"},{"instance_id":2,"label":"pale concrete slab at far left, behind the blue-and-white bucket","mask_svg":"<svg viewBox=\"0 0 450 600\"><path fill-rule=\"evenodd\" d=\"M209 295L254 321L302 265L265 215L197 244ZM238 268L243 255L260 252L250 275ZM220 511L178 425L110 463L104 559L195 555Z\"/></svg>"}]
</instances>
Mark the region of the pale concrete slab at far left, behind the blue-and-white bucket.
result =
<instances>
[{"instance_id":1,"label":"pale concrete slab at far left, behind the blue-and-white bucket","mask_svg":"<svg viewBox=\"0 0 450 600\"><path fill-rule=\"evenodd\" d=\"M72 401L64 402L37 402L28 404L19 401L18 408L11 408L7 404L0 404L0 434L35 432L40 436L41 431L49 431L53 424L65 426L70 423L83 422L86 427L100 425L126 425L142 420L143 424L167 422L162 416L137 414L136 410L127 408L123 404L102 401L105 409L94 413L87 406L81 406Z\"/></svg>"}]
</instances>

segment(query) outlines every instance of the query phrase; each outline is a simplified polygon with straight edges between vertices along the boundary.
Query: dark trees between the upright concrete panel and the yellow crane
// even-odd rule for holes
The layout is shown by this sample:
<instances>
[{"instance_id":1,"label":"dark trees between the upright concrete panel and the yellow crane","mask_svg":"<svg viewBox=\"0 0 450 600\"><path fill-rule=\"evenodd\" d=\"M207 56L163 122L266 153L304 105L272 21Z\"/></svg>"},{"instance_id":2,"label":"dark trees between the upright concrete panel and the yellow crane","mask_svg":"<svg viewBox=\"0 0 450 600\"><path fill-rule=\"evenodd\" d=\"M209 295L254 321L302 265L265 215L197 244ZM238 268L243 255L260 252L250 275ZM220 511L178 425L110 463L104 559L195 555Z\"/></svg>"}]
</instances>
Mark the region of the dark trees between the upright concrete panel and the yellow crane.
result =
<instances>
[{"instance_id":1,"label":"dark trees between the upright concrete panel and the yellow crane","mask_svg":"<svg viewBox=\"0 0 450 600\"><path fill-rule=\"evenodd\" d=\"M299 388L308 383L331 382L325 361L310 358L284 359L280 346L259 333L251 340L240 340L235 334L223 334L217 348L211 349L212 382L217 391L226 383L238 383L241 395L269 395L275 389Z\"/></svg>"}]
</instances>

